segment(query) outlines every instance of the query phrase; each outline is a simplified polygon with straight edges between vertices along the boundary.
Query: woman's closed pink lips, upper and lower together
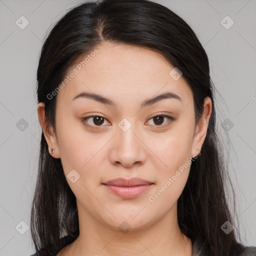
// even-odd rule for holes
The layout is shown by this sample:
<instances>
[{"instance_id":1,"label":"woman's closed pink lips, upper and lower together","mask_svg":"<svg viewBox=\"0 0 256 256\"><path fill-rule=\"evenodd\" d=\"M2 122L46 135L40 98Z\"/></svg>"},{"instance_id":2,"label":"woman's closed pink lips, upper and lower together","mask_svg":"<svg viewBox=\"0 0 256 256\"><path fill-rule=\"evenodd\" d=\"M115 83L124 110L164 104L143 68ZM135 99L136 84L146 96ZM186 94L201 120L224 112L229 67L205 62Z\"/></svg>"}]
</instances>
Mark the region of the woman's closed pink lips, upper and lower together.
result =
<instances>
[{"instance_id":1,"label":"woman's closed pink lips, upper and lower together","mask_svg":"<svg viewBox=\"0 0 256 256\"><path fill-rule=\"evenodd\" d=\"M154 183L141 178L116 178L102 184L115 195L122 198L134 198L141 195Z\"/></svg>"}]
</instances>

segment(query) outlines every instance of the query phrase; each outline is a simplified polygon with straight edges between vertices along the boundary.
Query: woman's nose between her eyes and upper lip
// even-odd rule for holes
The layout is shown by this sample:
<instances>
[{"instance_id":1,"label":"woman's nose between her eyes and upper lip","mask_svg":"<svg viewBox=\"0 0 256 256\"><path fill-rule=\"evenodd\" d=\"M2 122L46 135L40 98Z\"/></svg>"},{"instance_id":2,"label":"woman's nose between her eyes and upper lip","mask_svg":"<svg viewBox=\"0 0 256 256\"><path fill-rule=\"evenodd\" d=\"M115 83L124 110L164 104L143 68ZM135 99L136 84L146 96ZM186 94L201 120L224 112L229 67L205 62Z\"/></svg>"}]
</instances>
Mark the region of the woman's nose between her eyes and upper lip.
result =
<instances>
[{"instance_id":1,"label":"woman's nose between her eyes and upper lip","mask_svg":"<svg viewBox=\"0 0 256 256\"><path fill-rule=\"evenodd\" d=\"M117 134L111 142L109 153L111 163L115 165L121 164L126 168L135 164L143 164L146 159L146 146L142 141L141 135L136 132L133 125L126 131L118 128Z\"/></svg>"}]
</instances>

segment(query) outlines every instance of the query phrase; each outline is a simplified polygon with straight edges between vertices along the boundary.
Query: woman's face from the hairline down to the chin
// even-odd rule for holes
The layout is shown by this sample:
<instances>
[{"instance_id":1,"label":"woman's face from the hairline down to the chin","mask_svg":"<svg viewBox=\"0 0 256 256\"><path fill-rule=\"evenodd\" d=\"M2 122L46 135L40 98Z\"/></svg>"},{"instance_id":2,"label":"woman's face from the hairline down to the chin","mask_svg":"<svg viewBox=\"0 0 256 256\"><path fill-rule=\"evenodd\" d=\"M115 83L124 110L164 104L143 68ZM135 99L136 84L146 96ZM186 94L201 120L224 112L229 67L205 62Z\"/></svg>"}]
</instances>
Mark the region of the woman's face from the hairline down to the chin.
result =
<instances>
[{"instance_id":1,"label":"woman's face from the hairline down to the chin","mask_svg":"<svg viewBox=\"0 0 256 256\"><path fill-rule=\"evenodd\" d=\"M192 91L182 75L173 78L174 66L161 54L112 43L96 49L86 65L68 70L77 73L57 93L56 134L44 134L52 156L61 158L78 213L135 230L175 211L206 135L210 99L195 125ZM82 92L109 100L77 96ZM150 185L119 187L117 194L105 185L133 177Z\"/></svg>"}]
</instances>

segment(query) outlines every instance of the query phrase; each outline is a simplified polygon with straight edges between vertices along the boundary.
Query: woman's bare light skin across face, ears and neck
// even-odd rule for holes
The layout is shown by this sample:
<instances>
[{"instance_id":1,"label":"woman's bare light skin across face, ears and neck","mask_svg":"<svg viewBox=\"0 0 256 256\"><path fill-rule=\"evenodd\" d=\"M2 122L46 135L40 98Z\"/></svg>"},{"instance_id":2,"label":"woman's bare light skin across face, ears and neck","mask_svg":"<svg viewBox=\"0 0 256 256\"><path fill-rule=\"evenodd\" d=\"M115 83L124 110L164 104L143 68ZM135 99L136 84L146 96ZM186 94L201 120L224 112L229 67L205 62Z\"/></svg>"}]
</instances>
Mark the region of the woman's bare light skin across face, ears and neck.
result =
<instances>
[{"instance_id":1,"label":"woman's bare light skin across face, ears and neck","mask_svg":"<svg viewBox=\"0 0 256 256\"><path fill-rule=\"evenodd\" d=\"M161 54L107 42L96 48L96 56L57 93L56 134L47 129L43 103L37 107L49 153L54 148L52 157L61 158L78 209L79 236L57 256L191 256L191 240L177 223L177 199L190 165L153 202L149 196L199 153L211 100L205 98L204 114L195 125L192 91L182 76L174 80L169 75L174 66ZM83 91L110 98L116 107L88 98L72 100ZM140 109L143 100L167 91L181 101L166 98ZM176 119L168 123L164 118L159 125L151 118L158 113ZM95 118L81 121L93 114L105 118L101 126ZM131 123L126 131L118 126L123 118ZM67 178L72 169L80 174L74 183ZM124 199L102 185L117 177L140 177L154 184L138 197ZM130 228L126 233L118 227L123 221Z\"/></svg>"}]
</instances>

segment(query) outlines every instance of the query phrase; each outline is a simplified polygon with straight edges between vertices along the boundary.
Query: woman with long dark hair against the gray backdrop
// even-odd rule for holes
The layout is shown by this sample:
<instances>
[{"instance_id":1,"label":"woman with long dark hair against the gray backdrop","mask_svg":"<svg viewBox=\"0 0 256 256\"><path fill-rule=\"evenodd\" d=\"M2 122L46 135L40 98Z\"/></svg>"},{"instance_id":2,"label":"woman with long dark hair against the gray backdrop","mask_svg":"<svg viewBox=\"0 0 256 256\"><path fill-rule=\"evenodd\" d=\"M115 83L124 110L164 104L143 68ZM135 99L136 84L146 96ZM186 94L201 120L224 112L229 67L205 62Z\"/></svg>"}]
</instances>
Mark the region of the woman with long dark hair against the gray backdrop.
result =
<instances>
[{"instance_id":1,"label":"woman with long dark hair against the gray backdrop","mask_svg":"<svg viewBox=\"0 0 256 256\"><path fill-rule=\"evenodd\" d=\"M80 4L47 36L37 85L34 255L255 253L234 233L208 58L183 19Z\"/></svg>"}]
</instances>

